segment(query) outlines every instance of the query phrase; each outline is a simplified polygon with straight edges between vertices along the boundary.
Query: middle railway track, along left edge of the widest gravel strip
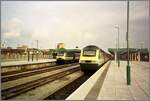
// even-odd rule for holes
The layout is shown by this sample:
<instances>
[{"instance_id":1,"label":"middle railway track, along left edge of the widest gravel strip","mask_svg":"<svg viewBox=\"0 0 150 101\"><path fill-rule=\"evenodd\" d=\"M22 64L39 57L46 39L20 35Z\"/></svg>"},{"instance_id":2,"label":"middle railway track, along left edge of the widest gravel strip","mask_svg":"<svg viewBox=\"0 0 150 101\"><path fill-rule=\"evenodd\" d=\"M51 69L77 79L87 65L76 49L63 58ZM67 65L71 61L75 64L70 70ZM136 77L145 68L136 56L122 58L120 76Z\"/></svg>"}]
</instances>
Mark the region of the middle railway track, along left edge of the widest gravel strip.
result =
<instances>
[{"instance_id":1,"label":"middle railway track, along left edge of the widest gravel strip","mask_svg":"<svg viewBox=\"0 0 150 101\"><path fill-rule=\"evenodd\" d=\"M62 78L66 75L69 75L69 74L74 73L79 70L80 70L79 65L70 66L70 67L61 69L58 73L55 73L55 74L52 74L52 75L49 75L49 76L46 76L46 77L43 77L40 79L36 79L36 80L30 81L30 82L26 82L24 84L17 85L17 86L11 87L11 88L2 89L1 90L2 99L3 100L10 99L21 93L27 92L31 89L42 86L44 84L47 84L49 82L52 82L59 78Z\"/></svg>"}]
</instances>

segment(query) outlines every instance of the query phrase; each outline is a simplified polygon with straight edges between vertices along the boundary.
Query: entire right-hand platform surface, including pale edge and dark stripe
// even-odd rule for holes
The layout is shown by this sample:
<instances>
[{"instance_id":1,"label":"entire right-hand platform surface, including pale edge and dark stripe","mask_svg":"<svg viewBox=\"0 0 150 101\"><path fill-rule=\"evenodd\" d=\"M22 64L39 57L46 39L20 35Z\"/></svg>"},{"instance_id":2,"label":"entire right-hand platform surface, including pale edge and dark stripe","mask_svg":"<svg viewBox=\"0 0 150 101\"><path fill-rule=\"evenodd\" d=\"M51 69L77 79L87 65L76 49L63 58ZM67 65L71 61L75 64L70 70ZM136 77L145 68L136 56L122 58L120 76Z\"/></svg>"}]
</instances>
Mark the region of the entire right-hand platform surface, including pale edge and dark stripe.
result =
<instances>
[{"instance_id":1,"label":"entire right-hand platform surface, including pale edge and dark stripe","mask_svg":"<svg viewBox=\"0 0 150 101\"><path fill-rule=\"evenodd\" d=\"M126 65L126 61L120 61L120 67L116 61L105 64L66 100L149 100L149 62L130 62L131 85Z\"/></svg>"}]
</instances>

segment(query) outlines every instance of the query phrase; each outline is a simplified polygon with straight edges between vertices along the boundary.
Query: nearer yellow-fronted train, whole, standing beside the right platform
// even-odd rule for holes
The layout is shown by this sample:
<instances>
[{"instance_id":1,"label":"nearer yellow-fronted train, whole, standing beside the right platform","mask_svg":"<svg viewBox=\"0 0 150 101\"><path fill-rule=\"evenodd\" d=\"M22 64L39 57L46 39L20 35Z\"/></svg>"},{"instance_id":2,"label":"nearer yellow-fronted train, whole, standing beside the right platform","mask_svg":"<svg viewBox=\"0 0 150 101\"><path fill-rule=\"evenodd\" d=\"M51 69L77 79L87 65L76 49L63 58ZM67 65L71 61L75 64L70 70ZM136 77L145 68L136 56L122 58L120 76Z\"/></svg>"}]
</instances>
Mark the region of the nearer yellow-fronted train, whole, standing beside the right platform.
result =
<instances>
[{"instance_id":1,"label":"nearer yellow-fronted train, whole, standing beside the right platform","mask_svg":"<svg viewBox=\"0 0 150 101\"><path fill-rule=\"evenodd\" d=\"M110 54L95 45L88 45L81 50L79 64L83 72L96 71L110 59Z\"/></svg>"}]
</instances>

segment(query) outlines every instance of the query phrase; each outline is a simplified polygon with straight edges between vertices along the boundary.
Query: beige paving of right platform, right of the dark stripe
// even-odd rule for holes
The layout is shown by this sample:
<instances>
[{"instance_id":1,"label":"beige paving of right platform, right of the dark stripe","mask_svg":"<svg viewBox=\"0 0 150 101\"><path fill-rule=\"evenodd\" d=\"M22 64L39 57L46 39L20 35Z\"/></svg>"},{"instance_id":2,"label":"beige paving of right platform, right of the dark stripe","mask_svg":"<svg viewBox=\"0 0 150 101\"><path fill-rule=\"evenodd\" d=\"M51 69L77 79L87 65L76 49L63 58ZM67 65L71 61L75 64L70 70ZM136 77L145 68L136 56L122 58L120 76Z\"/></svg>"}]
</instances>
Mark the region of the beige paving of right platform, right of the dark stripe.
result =
<instances>
[{"instance_id":1,"label":"beige paving of right platform, right of the dark stripe","mask_svg":"<svg viewBox=\"0 0 150 101\"><path fill-rule=\"evenodd\" d=\"M126 61L120 67L115 61L109 67L97 100L148 100L148 64L131 62L131 85L127 85Z\"/></svg>"}]
</instances>

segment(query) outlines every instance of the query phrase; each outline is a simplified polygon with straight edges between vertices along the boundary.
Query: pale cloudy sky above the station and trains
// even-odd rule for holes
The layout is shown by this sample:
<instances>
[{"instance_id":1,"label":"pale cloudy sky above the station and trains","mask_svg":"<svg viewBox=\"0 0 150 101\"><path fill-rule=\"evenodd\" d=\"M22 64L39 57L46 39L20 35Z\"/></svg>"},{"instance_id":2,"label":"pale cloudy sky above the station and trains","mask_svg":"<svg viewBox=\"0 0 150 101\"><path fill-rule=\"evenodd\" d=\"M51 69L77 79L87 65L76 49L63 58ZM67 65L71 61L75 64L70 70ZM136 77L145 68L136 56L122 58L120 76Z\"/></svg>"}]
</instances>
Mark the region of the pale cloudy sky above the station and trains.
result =
<instances>
[{"instance_id":1,"label":"pale cloudy sky above the station and trains","mask_svg":"<svg viewBox=\"0 0 150 101\"><path fill-rule=\"evenodd\" d=\"M129 47L149 46L149 1L130 1ZM126 48L126 1L1 1L1 41L39 48Z\"/></svg>"}]
</instances>

